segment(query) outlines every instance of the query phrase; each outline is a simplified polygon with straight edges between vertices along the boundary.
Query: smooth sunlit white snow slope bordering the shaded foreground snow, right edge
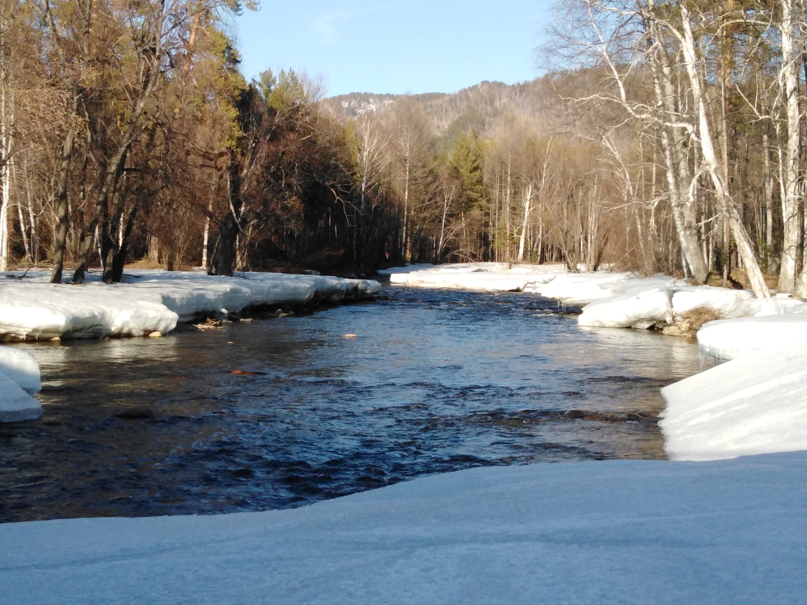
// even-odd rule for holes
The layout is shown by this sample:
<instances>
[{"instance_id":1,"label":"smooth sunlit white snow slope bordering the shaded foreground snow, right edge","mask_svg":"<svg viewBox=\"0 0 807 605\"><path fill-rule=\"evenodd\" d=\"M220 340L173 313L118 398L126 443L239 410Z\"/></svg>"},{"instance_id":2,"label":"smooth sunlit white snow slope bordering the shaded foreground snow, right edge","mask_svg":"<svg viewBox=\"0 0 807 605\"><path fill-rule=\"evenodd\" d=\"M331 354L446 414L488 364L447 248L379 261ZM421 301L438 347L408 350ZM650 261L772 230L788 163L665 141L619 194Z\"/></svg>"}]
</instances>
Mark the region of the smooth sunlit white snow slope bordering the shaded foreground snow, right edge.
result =
<instances>
[{"instance_id":1,"label":"smooth sunlit white snow slope bordering the shaded foreground snow, right edge","mask_svg":"<svg viewBox=\"0 0 807 605\"><path fill-rule=\"evenodd\" d=\"M659 426L674 460L807 449L807 349L761 351L666 386Z\"/></svg>"}]
</instances>

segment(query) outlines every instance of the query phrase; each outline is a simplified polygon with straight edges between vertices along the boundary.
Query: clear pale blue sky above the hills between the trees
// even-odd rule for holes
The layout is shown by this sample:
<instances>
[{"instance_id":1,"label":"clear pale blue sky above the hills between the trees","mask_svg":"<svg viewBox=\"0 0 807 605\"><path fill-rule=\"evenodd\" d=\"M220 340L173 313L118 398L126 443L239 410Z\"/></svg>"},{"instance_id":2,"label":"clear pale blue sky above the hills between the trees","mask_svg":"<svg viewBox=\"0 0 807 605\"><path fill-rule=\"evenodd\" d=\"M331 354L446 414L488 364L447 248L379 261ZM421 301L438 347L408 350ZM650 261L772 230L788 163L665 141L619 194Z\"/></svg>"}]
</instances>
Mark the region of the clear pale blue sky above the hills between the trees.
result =
<instances>
[{"instance_id":1,"label":"clear pale blue sky above the hills between the trees","mask_svg":"<svg viewBox=\"0 0 807 605\"><path fill-rule=\"evenodd\" d=\"M451 93L483 80L539 75L550 0L263 0L232 34L246 77L292 68L322 76L328 96Z\"/></svg>"}]
</instances>

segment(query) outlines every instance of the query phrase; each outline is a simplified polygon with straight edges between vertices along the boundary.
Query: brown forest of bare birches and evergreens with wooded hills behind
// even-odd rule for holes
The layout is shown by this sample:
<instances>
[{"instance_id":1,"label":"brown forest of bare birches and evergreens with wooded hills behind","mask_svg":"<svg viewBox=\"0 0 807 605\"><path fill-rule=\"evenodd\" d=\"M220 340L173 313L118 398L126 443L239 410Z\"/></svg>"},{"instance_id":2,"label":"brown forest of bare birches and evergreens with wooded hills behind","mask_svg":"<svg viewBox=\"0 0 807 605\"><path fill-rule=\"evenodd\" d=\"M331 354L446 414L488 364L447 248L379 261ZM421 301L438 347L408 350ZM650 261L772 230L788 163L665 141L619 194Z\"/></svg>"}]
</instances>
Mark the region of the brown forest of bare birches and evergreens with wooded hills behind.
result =
<instances>
[{"instance_id":1,"label":"brown forest of bare birches and evergreens with wooded hills behind","mask_svg":"<svg viewBox=\"0 0 807 605\"><path fill-rule=\"evenodd\" d=\"M545 75L252 81L239 0L2 0L0 270L562 262L807 298L807 5L560 0Z\"/></svg>"}]
</instances>

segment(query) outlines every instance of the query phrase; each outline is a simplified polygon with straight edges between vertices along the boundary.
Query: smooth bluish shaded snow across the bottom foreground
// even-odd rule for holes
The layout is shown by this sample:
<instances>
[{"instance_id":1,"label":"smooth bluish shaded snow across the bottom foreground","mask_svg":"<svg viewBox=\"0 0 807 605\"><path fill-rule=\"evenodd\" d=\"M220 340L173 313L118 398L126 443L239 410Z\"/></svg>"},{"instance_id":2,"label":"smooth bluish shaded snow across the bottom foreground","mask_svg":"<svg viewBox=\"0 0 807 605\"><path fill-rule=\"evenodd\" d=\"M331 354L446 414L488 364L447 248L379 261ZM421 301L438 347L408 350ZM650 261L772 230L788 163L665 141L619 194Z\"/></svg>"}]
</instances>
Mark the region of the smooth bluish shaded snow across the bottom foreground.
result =
<instances>
[{"instance_id":1,"label":"smooth bluish shaded snow across the bottom foreground","mask_svg":"<svg viewBox=\"0 0 807 605\"><path fill-rule=\"evenodd\" d=\"M0 525L7 603L801 603L807 453L463 470L285 511Z\"/></svg>"}]
</instances>

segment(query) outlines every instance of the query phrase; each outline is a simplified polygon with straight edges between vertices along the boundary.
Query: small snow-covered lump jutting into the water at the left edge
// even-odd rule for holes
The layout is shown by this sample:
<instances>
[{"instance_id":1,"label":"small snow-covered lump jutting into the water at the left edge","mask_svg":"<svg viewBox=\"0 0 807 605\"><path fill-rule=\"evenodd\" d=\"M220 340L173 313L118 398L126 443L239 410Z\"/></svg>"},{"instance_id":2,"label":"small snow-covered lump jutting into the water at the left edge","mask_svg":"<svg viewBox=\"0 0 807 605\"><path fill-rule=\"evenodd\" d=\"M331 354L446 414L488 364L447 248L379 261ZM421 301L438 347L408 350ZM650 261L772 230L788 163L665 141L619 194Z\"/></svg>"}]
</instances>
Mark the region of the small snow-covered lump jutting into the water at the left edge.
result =
<instances>
[{"instance_id":1,"label":"small snow-covered lump jutting into the water at the left edge","mask_svg":"<svg viewBox=\"0 0 807 605\"><path fill-rule=\"evenodd\" d=\"M0 422L39 418L42 406L31 395L40 390L36 358L27 351L0 346Z\"/></svg>"}]
</instances>

